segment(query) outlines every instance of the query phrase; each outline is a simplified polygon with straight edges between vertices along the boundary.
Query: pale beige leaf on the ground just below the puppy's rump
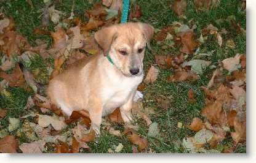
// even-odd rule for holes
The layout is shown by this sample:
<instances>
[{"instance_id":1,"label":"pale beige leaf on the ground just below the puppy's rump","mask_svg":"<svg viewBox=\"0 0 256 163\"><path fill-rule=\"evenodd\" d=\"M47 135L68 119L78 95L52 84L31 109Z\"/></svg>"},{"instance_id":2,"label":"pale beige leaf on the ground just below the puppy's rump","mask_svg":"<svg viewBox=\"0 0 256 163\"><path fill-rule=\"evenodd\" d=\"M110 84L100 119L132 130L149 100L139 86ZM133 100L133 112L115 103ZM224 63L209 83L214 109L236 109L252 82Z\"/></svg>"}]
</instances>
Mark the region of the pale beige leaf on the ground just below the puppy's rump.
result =
<instances>
[{"instance_id":1,"label":"pale beige leaf on the ground just below the puppy's rump","mask_svg":"<svg viewBox=\"0 0 256 163\"><path fill-rule=\"evenodd\" d=\"M48 115L39 115L38 124L41 127L47 127L51 124L56 131L61 131L63 128L66 127L66 124L64 121L60 120L55 116L48 116Z\"/></svg>"}]
</instances>

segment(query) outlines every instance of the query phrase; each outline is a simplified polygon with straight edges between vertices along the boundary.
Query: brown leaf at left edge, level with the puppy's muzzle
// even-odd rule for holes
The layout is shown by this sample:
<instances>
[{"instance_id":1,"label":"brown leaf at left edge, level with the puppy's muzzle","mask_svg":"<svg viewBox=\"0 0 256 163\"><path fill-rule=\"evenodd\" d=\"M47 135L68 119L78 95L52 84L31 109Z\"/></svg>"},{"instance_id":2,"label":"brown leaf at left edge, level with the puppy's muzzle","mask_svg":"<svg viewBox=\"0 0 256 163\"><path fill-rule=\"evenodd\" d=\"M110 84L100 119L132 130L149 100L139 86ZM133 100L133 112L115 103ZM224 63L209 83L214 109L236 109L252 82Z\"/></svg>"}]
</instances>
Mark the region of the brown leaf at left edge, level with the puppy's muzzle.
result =
<instances>
[{"instance_id":1,"label":"brown leaf at left edge, level with the puppy's muzzle","mask_svg":"<svg viewBox=\"0 0 256 163\"><path fill-rule=\"evenodd\" d=\"M0 72L0 77L4 78L9 82L9 86L20 86L25 83L25 79L23 77L22 70L18 64L13 70L12 74L6 74L5 72Z\"/></svg>"}]
</instances>

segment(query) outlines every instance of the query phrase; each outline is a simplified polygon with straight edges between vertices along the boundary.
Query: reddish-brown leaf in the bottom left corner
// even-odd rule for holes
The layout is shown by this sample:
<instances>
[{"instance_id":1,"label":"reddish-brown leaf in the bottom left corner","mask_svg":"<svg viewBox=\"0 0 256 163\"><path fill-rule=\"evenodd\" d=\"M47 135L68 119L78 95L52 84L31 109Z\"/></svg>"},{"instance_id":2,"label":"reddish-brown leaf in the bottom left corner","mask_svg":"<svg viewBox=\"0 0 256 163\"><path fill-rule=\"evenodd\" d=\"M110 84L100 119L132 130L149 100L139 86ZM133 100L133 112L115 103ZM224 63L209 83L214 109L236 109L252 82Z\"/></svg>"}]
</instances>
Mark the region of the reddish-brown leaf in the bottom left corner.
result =
<instances>
[{"instance_id":1,"label":"reddish-brown leaf in the bottom left corner","mask_svg":"<svg viewBox=\"0 0 256 163\"><path fill-rule=\"evenodd\" d=\"M18 141L12 135L0 139L0 153L17 153Z\"/></svg>"}]
</instances>

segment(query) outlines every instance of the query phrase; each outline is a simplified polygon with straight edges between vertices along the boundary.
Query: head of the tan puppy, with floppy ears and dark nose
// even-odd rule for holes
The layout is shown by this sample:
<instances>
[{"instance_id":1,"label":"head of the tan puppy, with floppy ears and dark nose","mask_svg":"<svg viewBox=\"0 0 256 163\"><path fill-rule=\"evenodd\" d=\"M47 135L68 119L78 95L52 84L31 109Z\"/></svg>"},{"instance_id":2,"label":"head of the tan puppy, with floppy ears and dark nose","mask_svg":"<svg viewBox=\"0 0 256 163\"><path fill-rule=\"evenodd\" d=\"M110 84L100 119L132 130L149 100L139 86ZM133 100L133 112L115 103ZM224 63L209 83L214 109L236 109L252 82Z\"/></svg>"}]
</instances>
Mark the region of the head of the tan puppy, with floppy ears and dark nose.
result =
<instances>
[{"instance_id":1,"label":"head of the tan puppy, with floppy ears and dark nose","mask_svg":"<svg viewBox=\"0 0 256 163\"><path fill-rule=\"evenodd\" d=\"M154 28L145 23L127 23L103 28L95 33L95 40L110 55L122 74L142 75L146 44L153 37Z\"/></svg>"}]
</instances>

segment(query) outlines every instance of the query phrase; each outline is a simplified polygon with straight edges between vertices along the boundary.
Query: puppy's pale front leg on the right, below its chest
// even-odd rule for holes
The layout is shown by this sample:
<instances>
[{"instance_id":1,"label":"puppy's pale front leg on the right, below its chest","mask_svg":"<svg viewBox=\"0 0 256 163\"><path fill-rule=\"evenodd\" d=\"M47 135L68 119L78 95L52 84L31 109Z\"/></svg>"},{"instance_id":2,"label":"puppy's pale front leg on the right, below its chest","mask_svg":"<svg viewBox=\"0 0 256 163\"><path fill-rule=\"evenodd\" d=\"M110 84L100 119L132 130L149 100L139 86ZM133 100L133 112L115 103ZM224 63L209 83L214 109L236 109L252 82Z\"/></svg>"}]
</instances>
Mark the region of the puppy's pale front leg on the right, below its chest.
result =
<instances>
[{"instance_id":1,"label":"puppy's pale front leg on the right, below its chest","mask_svg":"<svg viewBox=\"0 0 256 163\"><path fill-rule=\"evenodd\" d=\"M132 105L134 104L135 93L136 93L136 90L132 91L126 104L120 107L120 112L121 112L122 119L124 120L124 123L130 123L130 121L132 120L132 113L130 111L132 109Z\"/></svg>"}]
</instances>

